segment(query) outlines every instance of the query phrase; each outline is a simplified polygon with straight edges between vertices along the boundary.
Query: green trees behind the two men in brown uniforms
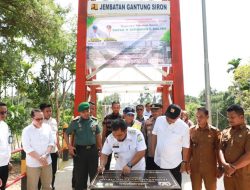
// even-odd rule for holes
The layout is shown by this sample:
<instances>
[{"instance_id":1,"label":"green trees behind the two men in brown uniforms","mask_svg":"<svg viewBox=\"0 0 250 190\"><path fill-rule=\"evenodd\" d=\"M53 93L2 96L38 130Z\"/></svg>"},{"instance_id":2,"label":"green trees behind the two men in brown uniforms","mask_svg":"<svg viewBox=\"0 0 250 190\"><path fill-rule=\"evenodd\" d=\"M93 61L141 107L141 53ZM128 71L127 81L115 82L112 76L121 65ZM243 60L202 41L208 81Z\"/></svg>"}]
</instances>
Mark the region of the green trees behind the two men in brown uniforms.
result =
<instances>
[{"instance_id":1,"label":"green trees behind the two men in brown uniforms","mask_svg":"<svg viewBox=\"0 0 250 190\"><path fill-rule=\"evenodd\" d=\"M228 126L227 108L232 104L240 104L245 110L246 120L250 122L250 64L240 66L241 59L233 59L229 62L232 65L228 72L233 71L233 85L226 92L211 90L211 112L212 125L220 130ZM198 98L185 96L186 110L191 120L197 106L205 106L205 91L203 90Z\"/></svg>"}]
</instances>

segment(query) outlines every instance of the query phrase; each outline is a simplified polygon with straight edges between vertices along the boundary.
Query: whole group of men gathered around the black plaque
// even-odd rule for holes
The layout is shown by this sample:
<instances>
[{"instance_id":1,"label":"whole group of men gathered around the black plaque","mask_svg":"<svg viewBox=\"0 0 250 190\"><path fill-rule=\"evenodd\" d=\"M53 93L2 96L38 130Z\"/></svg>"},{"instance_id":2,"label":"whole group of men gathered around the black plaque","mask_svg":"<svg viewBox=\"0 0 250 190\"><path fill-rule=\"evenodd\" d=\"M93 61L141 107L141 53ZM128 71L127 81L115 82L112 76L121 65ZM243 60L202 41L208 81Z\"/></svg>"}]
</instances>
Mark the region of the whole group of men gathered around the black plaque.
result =
<instances>
[{"instance_id":1,"label":"whole group of men gathered around the black plaque","mask_svg":"<svg viewBox=\"0 0 250 190\"><path fill-rule=\"evenodd\" d=\"M241 106L227 109L229 127L222 132L208 123L209 113L204 107L196 110L193 124L176 104L169 105L165 112L159 103L140 104L135 109L125 107L120 114L117 101L112 103L112 113L104 117L101 131L91 113L93 106L89 102L79 104L79 116L64 134L74 160L75 190L87 189L88 177L93 180L97 172L109 170L112 159L114 169L124 175L132 170L169 170L181 185L181 173L187 172L193 190L201 190L202 182L207 190L216 190L217 178L224 175L225 190L249 189L250 127ZM7 106L0 102L0 190L5 189L10 160L11 133L4 122L6 116ZM51 105L33 109L31 118L22 132L27 189L55 189L61 147Z\"/></svg>"}]
</instances>

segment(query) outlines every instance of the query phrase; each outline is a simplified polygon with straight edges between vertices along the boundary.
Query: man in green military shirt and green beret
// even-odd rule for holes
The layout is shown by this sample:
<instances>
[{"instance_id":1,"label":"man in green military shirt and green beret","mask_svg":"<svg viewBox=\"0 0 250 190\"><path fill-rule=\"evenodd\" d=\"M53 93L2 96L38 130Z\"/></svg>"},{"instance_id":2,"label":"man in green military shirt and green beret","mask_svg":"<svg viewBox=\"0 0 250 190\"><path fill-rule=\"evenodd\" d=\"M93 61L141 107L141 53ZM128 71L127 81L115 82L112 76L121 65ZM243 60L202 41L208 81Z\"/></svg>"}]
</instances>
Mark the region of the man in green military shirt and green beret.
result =
<instances>
[{"instance_id":1,"label":"man in green military shirt and green beret","mask_svg":"<svg viewBox=\"0 0 250 190\"><path fill-rule=\"evenodd\" d=\"M97 122L90 117L89 103L78 106L80 117L75 118L64 134L69 153L75 158L75 189L87 189L88 175L93 180L98 167L98 150L101 149L101 135ZM75 142L69 144L69 135L74 133Z\"/></svg>"}]
</instances>

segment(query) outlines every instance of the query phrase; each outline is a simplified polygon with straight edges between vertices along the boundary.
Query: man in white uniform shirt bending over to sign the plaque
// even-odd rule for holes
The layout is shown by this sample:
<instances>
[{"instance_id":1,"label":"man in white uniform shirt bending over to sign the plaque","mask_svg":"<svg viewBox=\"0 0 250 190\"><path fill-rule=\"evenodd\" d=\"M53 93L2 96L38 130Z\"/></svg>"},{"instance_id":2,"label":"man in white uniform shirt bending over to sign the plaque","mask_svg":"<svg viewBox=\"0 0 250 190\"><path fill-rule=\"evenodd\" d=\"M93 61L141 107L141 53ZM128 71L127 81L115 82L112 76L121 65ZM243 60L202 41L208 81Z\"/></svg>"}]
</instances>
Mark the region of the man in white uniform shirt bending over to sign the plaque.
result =
<instances>
[{"instance_id":1,"label":"man in white uniform shirt bending over to sign the plaque","mask_svg":"<svg viewBox=\"0 0 250 190\"><path fill-rule=\"evenodd\" d=\"M112 133L102 148L98 171L103 172L108 155L112 152L116 159L115 170L129 174L131 170L145 170L146 144L141 131L127 127L122 119L116 119L111 125Z\"/></svg>"}]
</instances>

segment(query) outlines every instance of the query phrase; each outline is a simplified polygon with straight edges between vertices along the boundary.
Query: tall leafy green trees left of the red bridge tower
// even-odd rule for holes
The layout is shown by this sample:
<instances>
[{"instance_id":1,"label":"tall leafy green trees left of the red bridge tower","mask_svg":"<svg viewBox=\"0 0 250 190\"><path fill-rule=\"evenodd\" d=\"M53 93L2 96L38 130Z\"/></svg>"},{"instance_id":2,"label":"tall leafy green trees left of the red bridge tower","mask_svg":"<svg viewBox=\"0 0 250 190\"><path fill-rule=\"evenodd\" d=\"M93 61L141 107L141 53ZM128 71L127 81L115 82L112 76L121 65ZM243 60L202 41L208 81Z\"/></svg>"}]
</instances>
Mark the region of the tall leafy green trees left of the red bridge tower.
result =
<instances>
[{"instance_id":1,"label":"tall leafy green trees left of the red bridge tower","mask_svg":"<svg viewBox=\"0 0 250 190\"><path fill-rule=\"evenodd\" d=\"M67 98L72 102L67 91L75 73L75 25L67 22L64 27L68 12L53 0L0 1L0 99L5 97L10 104L9 124L17 133L15 127L24 127L15 124L24 114L17 114L21 113L18 106L29 112L50 101L58 121L60 109L65 109L65 114L72 110L72 104L62 106ZM40 64L41 69L35 73L33 66ZM12 100L7 94L10 87L16 91ZM67 120L67 116L62 117Z\"/></svg>"}]
</instances>

